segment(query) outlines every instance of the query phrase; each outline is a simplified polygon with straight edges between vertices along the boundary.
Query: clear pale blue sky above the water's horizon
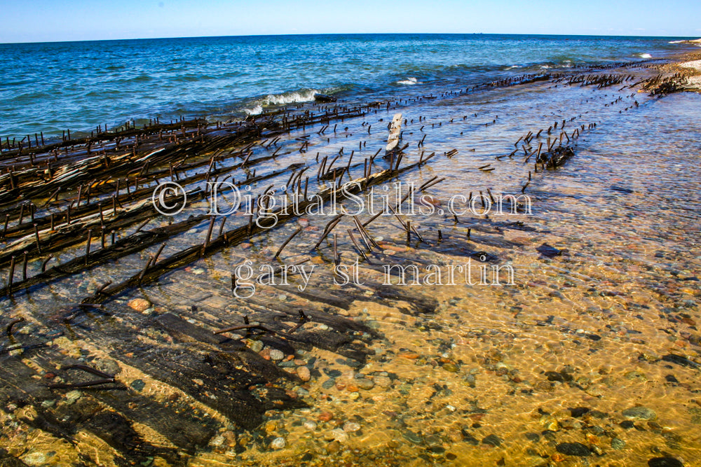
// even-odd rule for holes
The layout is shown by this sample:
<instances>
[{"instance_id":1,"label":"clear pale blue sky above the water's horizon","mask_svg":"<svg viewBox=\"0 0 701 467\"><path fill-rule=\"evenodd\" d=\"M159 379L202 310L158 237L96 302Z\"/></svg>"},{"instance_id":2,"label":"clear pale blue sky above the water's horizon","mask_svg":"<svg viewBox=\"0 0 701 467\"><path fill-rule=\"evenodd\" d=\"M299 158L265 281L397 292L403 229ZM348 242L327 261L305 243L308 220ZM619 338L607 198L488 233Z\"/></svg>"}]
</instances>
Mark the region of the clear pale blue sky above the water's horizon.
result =
<instances>
[{"instance_id":1,"label":"clear pale blue sky above the water's horizon","mask_svg":"<svg viewBox=\"0 0 701 467\"><path fill-rule=\"evenodd\" d=\"M701 37L699 0L3 0L0 43L436 32Z\"/></svg>"}]
</instances>

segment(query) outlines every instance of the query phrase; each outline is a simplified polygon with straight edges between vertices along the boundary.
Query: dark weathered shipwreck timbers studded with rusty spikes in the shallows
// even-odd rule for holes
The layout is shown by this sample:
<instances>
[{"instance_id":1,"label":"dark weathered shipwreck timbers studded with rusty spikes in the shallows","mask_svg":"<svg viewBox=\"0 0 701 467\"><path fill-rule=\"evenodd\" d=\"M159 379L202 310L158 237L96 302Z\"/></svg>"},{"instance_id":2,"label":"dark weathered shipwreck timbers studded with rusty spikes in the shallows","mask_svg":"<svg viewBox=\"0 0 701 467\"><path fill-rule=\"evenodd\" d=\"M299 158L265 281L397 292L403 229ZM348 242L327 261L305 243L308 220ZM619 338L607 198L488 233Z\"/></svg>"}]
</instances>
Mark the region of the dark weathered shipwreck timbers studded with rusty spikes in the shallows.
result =
<instances>
[{"instance_id":1,"label":"dark weathered shipwreck timbers studded with rusty spikes in the shallows","mask_svg":"<svg viewBox=\"0 0 701 467\"><path fill-rule=\"evenodd\" d=\"M641 86L653 95L664 95L678 90L683 79L673 76L635 81L630 74L608 72L622 66L616 64L566 75L524 75L460 92L547 82L597 88L622 85L620 90ZM24 417L23 423L72 446L79 443L77 433L92 433L114 450L119 465L144 463L153 457L161 457L172 465L185 465L188 457L205 447L224 422L233 424L240 434L257 428L268 410L308 405L290 391L291 384L301 382L299 376L253 351L247 342L260 341L285 356L294 356L300 349L324 349L362 365L372 355L372 343L381 335L366 323L343 316L341 310L363 301L397 307L407 314L432 314L440 306L428 291L388 285L378 279L388 251L393 261L401 260L403 265L416 267L426 267L442 254L494 263L498 258L482 249L507 242L491 239L490 235L527 228L518 223L490 221L484 225L470 223L464 235L421 231L393 211L407 244L416 247L402 250L396 242L377 240L376 234L369 231L369 224L377 215L362 218L341 214L327 223L311 251L335 265L349 256L357 257L371 277L362 285L329 287L334 277L331 272L325 272L304 291L292 284L271 286L274 291L294 298L292 302L275 301L271 295L243 300L232 296L231 289L221 283L213 285L205 279L199 282L196 277L186 290L168 288L169 274L250 242L264 232L283 230L299 216L278 209L273 211L275 222L263 218L257 223L250 214L231 216L226 226L226 217L202 214L149 227L158 218L151 195L161 181L182 184L194 202L207 200L208 196L197 188L198 183L230 179L237 187L254 186L253 196L260 211L271 201L269 187L262 189L267 181L289 177L286 193L299 197L299 206L304 209L318 200L326 203L342 200L379 183L399 179L436 157L435 152L426 151L425 155L423 148L430 141L425 142L423 126L420 139L400 147L402 114L396 113L388 125L390 135L386 145L372 156L361 160L354 158L355 151L344 153L341 148L338 154L308 158L309 163L271 169L266 162L310 151L308 135L291 138L297 137L298 132L313 131L320 137L326 132L340 133L344 120L364 118L378 111L395 111L402 104L388 101L343 106L336 104L333 97L317 95L315 99L314 106L272 111L242 122L155 120L142 128L107 131L98 127L95 134L77 139L71 139L68 132L60 141L46 141L43 134L41 143L38 136L34 144L31 138L16 144L8 140L0 153L0 222L3 223L0 237L5 242L0 251L3 300L11 303L29 300L33 293L60 279L149 247L158 246L158 250L128 277L106 281L84 296L76 293L72 305L47 310L43 316L3 316L0 404L31 407L32 417ZM556 122L536 134L527 133L516 141L512 153L497 159L522 155L523 164L532 165L534 174L562 167L575 155L580 134L596 128L596 123L576 125L572 123L574 120ZM368 134L371 128L372 125L367 125ZM421 150L418 158L404 153L411 144ZM362 149L365 145L361 142L358 153ZM377 158L382 149L386 153ZM446 151L444 155L456 157L458 150ZM488 175L495 167L489 164L477 169ZM355 184L344 191L343 180ZM443 180L436 175L419 190L428 190ZM522 191L529 183L530 170ZM494 200L489 188L477 190L484 190ZM482 191L479 193L482 198ZM472 193L468 199L471 201ZM454 225L460 221L454 216ZM203 223L208 223L204 242L187 248L168 247L172 239ZM299 256L300 251L308 253L309 246L295 246L299 232L301 229L285 230L285 241L275 247L271 261L288 253L291 257ZM344 246L346 251L340 253L338 235L350 240ZM66 251L70 253L64 254ZM60 254L66 259L60 258ZM554 256L550 251L543 254ZM30 268L34 274L28 274L28 265L34 265ZM274 272L281 273L280 268ZM235 274L230 279L232 288L240 280ZM154 285L149 294L151 300L147 302L152 312L144 314L130 309L125 296L149 284ZM191 303L193 295L198 293L207 296L198 305L191 305L197 320L186 319L185 315L168 309L165 303L168 294ZM304 302L304 307L299 302ZM75 342L93 350L88 362L82 358L84 355L66 350ZM168 388L169 393L142 392L135 385L140 378L130 377L132 382L126 384L126 372L151 378ZM76 389L89 393L70 404L55 403ZM136 429L142 425L156 431L167 442L145 438ZM238 445L238 440L236 449L245 449Z\"/></svg>"}]
</instances>

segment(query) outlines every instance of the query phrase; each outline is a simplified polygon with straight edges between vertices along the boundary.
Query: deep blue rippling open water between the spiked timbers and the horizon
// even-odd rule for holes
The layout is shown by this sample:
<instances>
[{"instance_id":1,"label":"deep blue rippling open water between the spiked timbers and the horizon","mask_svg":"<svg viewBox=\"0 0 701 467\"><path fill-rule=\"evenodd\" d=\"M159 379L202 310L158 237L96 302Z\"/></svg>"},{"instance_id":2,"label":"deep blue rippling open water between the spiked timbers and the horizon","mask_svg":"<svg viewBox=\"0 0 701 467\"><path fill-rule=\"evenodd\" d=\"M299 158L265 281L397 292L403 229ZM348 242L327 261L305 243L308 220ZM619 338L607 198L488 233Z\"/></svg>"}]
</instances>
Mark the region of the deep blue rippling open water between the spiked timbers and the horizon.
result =
<instances>
[{"instance_id":1,"label":"deep blue rippling open water between the spiked timbers and the horizon","mask_svg":"<svg viewBox=\"0 0 701 467\"><path fill-rule=\"evenodd\" d=\"M688 48L674 39L354 34L0 44L0 136L79 134L156 116L240 118L315 92L442 92Z\"/></svg>"}]
</instances>

